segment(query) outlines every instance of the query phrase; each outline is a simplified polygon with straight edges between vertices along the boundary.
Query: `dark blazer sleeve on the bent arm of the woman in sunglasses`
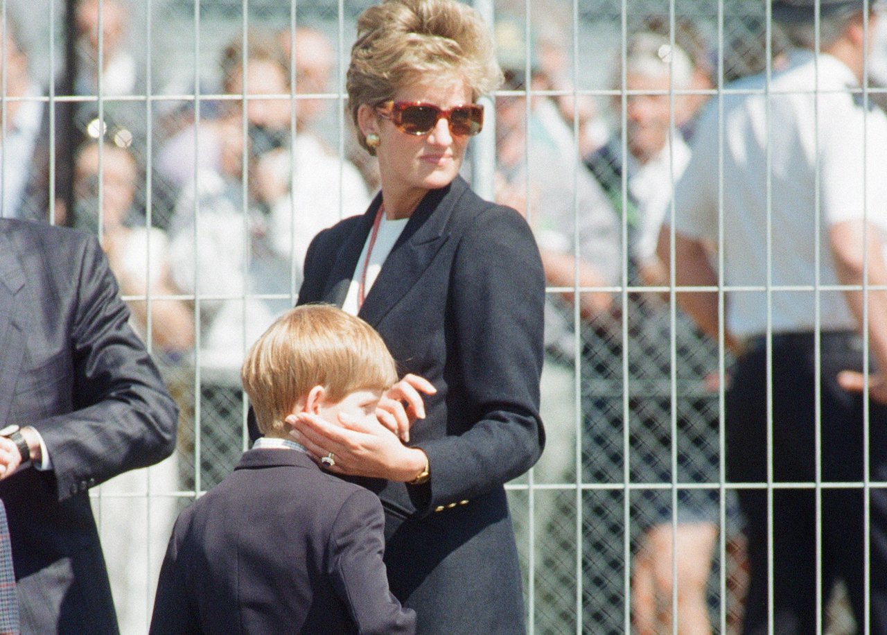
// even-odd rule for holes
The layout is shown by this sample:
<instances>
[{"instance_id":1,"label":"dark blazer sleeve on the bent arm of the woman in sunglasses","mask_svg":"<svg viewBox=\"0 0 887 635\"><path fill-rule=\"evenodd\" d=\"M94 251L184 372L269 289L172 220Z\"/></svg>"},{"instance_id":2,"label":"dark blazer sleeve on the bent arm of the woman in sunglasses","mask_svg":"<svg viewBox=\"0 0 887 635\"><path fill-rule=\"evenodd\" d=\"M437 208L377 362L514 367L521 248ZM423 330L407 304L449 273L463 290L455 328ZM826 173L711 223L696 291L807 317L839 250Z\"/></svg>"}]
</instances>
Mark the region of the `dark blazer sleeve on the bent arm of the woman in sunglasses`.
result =
<instances>
[{"instance_id":1,"label":"dark blazer sleeve on the bent arm of the woman in sunglasses","mask_svg":"<svg viewBox=\"0 0 887 635\"><path fill-rule=\"evenodd\" d=\"M545 274L530 228L492 208L465 232L453 263L452 320L462 435L421 443L431 505L475 498L523 474L545 443L539 419Z\"/></svg>"}]
</instances>

